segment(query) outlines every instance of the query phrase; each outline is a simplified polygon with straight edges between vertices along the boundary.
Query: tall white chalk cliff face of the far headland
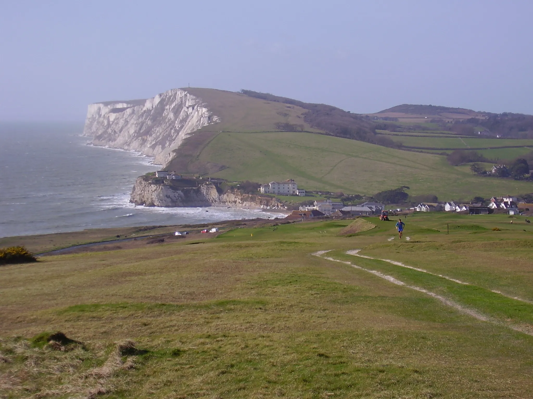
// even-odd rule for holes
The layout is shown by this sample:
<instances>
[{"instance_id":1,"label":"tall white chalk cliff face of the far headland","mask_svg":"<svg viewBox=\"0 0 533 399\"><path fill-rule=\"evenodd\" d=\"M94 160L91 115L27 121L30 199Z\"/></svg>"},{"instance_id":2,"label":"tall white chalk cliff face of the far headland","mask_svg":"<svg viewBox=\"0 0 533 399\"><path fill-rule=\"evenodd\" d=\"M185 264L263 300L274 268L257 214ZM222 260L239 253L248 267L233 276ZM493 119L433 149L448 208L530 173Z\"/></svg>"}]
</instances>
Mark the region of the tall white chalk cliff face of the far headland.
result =
<instances>
[{"instance_id":1,"label":"tall white chalk cliff face of the far headland","mask_svg":"<svg viewBox=\"0 0 533 399\"><path fill-rule=\"evenodd\" d=\"M201 98L172 89L147 100L89 105L83 134L94 145L140 151L166 164L184 138L216 122Z\"/></svg>"}]
</instances>

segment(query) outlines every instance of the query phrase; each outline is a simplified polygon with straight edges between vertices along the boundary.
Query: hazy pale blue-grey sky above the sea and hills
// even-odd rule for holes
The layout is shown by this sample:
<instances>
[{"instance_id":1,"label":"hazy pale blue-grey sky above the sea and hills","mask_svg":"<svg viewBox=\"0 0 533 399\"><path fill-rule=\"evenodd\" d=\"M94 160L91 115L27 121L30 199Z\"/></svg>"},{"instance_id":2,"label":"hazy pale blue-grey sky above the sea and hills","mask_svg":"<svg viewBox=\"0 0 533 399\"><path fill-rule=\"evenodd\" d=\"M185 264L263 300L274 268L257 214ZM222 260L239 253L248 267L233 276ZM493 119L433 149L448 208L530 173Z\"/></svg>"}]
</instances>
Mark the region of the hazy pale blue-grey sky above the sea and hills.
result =
<instances>
[{"instance_id":1,"label":"hazy pale blue-grey sky above the sea and hills","mask_svg":"<svg viewBox=\"0 0 533 399\"><path fill-rule=\"evenodd\" d=\"M0 0L0 120L241 88L376 112L533 114L533 2Z\"/></svg>"}]
</instances>

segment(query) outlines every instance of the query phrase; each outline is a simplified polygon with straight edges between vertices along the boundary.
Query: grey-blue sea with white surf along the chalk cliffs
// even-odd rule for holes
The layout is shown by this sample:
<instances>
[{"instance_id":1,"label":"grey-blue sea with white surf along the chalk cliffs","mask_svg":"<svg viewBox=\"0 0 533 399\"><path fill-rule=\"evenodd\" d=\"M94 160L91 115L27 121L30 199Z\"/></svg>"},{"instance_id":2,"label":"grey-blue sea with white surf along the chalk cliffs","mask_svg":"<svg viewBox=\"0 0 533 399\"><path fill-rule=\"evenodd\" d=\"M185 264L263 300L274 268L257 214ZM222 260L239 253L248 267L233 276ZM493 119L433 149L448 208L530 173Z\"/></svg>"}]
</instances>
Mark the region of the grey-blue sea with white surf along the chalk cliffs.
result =
<instances>
[{"instance_id":1,"label":"grey-blue sea with white surf along the chalk cliffs","mask_svg":"<svg viewBox=\"0 0 533 399\"><path fill-rule=\"evenodd\" d=\"M92 146L82 130L80 123L0 123L0 237L279 216L135 207L129 200L136 177L158 166L135 152Z\"/></svg>"}]
</instances>

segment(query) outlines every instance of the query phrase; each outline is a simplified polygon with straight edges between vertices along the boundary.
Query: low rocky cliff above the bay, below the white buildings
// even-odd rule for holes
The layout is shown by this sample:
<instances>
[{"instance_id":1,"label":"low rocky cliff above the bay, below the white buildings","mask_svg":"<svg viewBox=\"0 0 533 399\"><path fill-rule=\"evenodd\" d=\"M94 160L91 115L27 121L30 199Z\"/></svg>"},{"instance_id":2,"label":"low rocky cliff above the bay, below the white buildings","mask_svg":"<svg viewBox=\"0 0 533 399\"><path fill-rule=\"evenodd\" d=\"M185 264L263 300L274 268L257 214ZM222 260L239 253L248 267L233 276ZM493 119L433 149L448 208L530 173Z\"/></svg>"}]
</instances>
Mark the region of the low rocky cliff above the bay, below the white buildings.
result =
<instances>
[{"instance_id":1,"label":"low rocky cliff above the bay, below the white buildings","mask_svg":"<svg viewBox=\"0 0 533 399\"><path fill-rule=\"evenodd\" d=\"M195 188L172 188L165 184L154 184L143 177L137 178L130 202L135 205L180 207L225 205L241 208L278 206L274 198L227 192L219 194L213 184Z\"/></svg>"}]
</instances>

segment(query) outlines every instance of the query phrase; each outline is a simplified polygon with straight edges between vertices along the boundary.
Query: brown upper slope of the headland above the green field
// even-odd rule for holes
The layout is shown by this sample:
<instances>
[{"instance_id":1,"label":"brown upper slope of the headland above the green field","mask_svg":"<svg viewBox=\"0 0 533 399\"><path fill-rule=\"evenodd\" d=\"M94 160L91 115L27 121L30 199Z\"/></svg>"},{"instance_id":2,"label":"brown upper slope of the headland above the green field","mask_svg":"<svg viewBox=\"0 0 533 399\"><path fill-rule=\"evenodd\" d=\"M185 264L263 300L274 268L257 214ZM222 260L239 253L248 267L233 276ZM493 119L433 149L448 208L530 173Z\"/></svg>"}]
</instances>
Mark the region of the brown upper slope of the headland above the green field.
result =
<instances>
[{"instance_id":1,"label":"brown upper slope of the headland above the green field","mask_svg":"<svg viewBox=\"0 0 533 399\"><path fill-rule=\"evenodd\" d=\"M203 149L220 132L306 131L395 147L389 137L378 135L375 123L340 108L312 104L269 93L241 93L205 88L184 88L201 98L221 121L209 124L185 138L166 166L180 173L215 173L225 164L200 159Z\"/></svg>"}]
</instances>

